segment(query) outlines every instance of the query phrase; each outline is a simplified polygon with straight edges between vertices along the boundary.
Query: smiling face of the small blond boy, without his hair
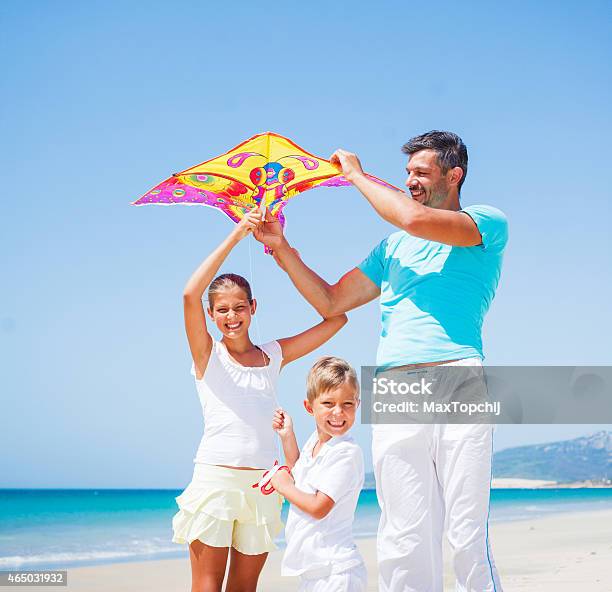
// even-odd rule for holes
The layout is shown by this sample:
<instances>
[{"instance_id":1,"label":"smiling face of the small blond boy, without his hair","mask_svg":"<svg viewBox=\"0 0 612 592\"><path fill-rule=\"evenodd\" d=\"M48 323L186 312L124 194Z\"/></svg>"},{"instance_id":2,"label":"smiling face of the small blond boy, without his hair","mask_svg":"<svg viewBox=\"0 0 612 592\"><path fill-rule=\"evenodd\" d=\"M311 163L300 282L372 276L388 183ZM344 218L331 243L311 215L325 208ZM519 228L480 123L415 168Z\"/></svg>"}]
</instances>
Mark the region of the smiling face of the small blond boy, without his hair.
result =
<instances>
[{"instance_id":1,"label":"smiling face of the small blond boy, without his hair","mask_svg":"<svg viewBox=\"0 0 612 592\"><path fill-rule=\"evenodd\" d=\"M304 407L315 419L319 439L325 442L351 429L355 423L359 399L355 387L344 382L335 389L321 393L312 405L306 399Z\"/></svg>"}]
</instances>

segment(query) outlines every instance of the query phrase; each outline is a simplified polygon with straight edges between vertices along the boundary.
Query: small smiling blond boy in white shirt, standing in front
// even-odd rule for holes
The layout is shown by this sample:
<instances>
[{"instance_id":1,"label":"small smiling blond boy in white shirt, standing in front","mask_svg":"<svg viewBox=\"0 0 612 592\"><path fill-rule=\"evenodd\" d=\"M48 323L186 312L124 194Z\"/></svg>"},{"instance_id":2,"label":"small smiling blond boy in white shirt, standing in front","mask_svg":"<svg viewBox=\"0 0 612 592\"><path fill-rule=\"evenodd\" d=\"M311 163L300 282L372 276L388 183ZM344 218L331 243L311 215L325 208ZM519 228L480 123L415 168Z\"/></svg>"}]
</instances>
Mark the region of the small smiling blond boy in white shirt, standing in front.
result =
<instances>
[{"instance_id":1,"label":"small smiling blond boy in white shirt, standing in front","mask_svg":"<svg viewBox=\"0 0 612 592\"><path fill-rule=\"evenodd\" d=\"M367 573L352 532L363 453L348 435L359 407L355 370L339 358L318 360L304 407L317 429L301 453L289 415L279 409L272 422L293 475L279 471L272 478L291 503L282 574L300 576L300 592L364 592Z\"/></svg>"}]
</instances>

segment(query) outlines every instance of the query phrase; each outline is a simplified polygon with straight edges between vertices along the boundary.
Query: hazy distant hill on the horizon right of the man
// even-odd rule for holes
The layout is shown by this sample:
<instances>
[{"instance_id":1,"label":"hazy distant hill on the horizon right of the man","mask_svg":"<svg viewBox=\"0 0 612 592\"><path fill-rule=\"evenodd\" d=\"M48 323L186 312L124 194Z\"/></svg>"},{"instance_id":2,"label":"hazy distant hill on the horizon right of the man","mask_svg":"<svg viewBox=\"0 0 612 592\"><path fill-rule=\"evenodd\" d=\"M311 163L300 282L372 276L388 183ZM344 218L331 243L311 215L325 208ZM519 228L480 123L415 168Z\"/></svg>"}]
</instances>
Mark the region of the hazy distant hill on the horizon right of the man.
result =
<instances>
[{"instance_id":1,"label":"hazy distant hill on the horizon right of the man","mask_svg":"<svg viewBox=\"0 0 612 592\"><path fill-rule=\"evenodd\" d=\"M612 432L500 450L493 455L493 477L607 481L612 479Z\"/></svg>"}]
</instances>

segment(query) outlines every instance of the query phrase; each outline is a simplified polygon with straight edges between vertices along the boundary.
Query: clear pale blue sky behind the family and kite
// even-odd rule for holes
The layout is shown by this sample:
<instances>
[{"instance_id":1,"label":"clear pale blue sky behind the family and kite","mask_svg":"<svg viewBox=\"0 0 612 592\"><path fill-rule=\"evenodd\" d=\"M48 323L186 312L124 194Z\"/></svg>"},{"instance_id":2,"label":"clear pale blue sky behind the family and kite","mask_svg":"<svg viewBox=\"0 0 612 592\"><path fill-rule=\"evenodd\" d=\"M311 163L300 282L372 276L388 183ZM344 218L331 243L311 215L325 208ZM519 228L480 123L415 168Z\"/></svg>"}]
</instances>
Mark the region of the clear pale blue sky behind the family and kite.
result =
<instances>
[{"instance_id":1,"label":"clear pale blue sky behind the family and kite","mask_svg":"<svg viewBox=\"0 0 612 592\"><path fill-rule=\"evenodd\" d=\"M459 133L463 204L510 221L487 362L610 364L611 22L606 2L3 3L0 486L189 480L202 422L181 294L231 222L129 203L266 130L323 156L355 151L396 185L409 137ZM351 188L309 192L286 214L330 281L392 230ZM254 338L316 322L252 254ZM224 270L249 277L246 242ZM283 373L300 440L308 367L322 353L372 363L378 322L376 304L355 311ZM601 427L500 427L496 447ZM369 430L356 434L369 463Z\"/></svg>"}]
</instances>

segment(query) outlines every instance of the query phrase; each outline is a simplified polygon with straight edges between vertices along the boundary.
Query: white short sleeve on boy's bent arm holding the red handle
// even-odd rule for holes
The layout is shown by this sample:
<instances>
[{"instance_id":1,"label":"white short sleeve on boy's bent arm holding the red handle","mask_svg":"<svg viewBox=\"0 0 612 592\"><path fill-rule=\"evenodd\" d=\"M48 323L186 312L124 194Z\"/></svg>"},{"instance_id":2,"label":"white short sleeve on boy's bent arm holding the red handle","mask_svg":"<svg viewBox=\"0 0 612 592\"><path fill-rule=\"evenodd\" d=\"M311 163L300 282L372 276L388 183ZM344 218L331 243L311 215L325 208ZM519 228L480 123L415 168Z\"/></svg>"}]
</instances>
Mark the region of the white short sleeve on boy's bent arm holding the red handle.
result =
<instances>
[{"instance_id":1,"label":"white short sleeve on boy's bent arm holding the red handle","mask_svg":"<svg viewBox=\"0 0 612 592\"><path fill-rule=\"evenodd\" d=\"M330 450L323 469L311 485L334 502L355 488L361 489L363 485L363 453L357 445Z\"/></svg>"}]
</instances>

